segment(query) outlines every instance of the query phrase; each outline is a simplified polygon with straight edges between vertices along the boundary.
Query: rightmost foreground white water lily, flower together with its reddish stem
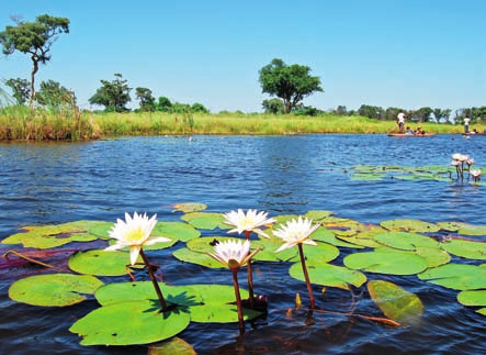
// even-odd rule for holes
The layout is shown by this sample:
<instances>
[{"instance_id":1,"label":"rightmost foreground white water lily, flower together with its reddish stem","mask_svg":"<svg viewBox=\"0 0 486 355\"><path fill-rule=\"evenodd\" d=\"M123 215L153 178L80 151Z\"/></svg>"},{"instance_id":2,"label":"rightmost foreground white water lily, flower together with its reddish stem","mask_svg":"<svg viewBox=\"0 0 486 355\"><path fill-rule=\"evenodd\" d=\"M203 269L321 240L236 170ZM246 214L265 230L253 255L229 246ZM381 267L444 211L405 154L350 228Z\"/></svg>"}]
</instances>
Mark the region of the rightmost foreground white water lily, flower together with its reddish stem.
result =
<instances>
[{"instance_id":1,"label":"rightmost foreground white water lily, flower together with its reddish stem","mask_svg":"<svg viewBox=\"0 0 486 355\"><path fill-rule=\"evenodd\" d=\"M283 225L281 229L275 230L273 232L274 235L282 238L285 244L279 247L275 253L280 253L286 248L293 247L294 245L298 246L298 254L301 256L302 270L304 271L305 282L307 284L307 291L310 301L310 309L316 308L316 302L314 300L313 289L310 286L310 280L307 273L307 267L305 265L305 256L302 244L308 245L317 245L316 242L309 238L310 234L313 234L320 224L314 224L313 221L298 217L298 220L293 219L292 221L286 222L286 225Z\"/></svg>"}]
</instances>

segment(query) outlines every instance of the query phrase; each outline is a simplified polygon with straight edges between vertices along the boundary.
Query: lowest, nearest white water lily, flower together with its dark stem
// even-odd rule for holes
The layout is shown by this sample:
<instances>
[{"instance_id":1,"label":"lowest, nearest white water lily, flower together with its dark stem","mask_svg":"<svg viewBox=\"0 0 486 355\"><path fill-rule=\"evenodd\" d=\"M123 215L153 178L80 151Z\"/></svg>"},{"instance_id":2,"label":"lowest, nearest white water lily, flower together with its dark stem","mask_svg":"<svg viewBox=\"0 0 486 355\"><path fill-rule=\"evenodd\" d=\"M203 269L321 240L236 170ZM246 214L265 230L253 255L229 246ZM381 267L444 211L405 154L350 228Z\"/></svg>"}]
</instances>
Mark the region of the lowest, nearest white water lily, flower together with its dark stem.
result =
<instances>
[{"instance_id":1,"label":"lowest, nearest white water lily, flower together with its dark stem","mask_svg":"<svg viewBox=\"0 0 486 355\"><path fill-rule=\"evenodd\" d=\"M236 306L238 308L238 323L240 333L245 332L245 323L244 323L244 314L241 307L241 296L239 292L238 285L238 270L245 264L249 265L250 258L257 254L260 248L257 248L253 253L250 254L250 241L226 241L216 243L214 246L214 254L210 253L210 255L226 265L233 273L233 285L235 287L235 297L236 297Z\"/></svg>"}]
</instances>

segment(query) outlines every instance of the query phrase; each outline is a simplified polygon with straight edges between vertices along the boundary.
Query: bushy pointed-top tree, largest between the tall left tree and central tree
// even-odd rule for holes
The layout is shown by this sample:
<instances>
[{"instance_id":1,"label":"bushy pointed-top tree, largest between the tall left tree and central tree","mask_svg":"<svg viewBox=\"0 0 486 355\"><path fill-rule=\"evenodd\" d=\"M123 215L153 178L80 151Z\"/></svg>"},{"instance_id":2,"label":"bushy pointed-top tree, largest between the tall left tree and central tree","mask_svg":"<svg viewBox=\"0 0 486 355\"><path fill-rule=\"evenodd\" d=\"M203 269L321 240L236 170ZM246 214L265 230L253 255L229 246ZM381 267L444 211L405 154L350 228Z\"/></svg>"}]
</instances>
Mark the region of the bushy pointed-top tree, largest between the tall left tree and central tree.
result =
<instances>
[{"instance_id":1,"label":"bushy pointed-top tree, largest between the tall left tree and central tree","mask_svg":"<svg viewBox=\"0 0 486 355\"><path fill-rule=\"evenodd\" d=\"M89 98L88 102L91 104L104 106L105 111L128 111L125 106L132 101L132 98L129 97L132 88L126 84L127 80L122 80L123 76L120 73L114 74L114 76L116 79L113 81L100 80L103 86Z\"/></svg>"}]
</instances>

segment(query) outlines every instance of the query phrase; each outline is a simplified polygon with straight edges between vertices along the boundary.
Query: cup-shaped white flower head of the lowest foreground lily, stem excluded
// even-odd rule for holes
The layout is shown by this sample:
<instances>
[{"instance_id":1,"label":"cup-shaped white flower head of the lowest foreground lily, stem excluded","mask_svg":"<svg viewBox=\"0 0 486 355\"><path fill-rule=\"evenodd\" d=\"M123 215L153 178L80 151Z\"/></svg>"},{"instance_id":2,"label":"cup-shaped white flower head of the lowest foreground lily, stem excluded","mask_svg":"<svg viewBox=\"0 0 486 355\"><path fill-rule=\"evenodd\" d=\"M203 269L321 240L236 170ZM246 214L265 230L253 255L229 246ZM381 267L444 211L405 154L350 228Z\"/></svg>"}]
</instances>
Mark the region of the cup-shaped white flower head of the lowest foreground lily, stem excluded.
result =
<instances>
[{"instance_id":1,"label":"cup-shaped white flower head of the lowest foreground lily, stem excluded","mask_svg":"<svg viewBox=\"0 0 486 355\"><path fill-rule=\"evenodd\" d=\"M250 254L250 241L229 240L217 243L214 246L215 254L208 254L230 269L235 269L247 264L259 251L260 248Z\"/></svg>"}]
</instances>

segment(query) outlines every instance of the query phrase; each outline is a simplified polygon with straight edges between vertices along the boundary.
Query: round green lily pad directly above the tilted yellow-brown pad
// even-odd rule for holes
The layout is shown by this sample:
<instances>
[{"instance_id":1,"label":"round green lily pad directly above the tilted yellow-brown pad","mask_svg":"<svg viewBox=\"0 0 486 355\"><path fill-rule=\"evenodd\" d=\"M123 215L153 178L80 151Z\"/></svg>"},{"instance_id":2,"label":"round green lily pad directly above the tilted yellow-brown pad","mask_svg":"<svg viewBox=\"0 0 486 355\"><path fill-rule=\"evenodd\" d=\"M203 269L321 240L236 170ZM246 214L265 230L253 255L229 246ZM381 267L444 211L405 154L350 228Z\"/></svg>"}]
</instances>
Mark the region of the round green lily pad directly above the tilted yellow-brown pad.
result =
<instances>
[{"instance_id":1,"label":"round green lily pad directly above the tilted yellow-brown pad","mask_svg":"<svg viewBox=\"0 0 486 355\"><path fill-rule=\"evenodd\" d=\"M343 263L351 269L389 275L414 275L427 268L427 263L421 256L386 247L348 255Z\"/></svg>"}]
</instances>

